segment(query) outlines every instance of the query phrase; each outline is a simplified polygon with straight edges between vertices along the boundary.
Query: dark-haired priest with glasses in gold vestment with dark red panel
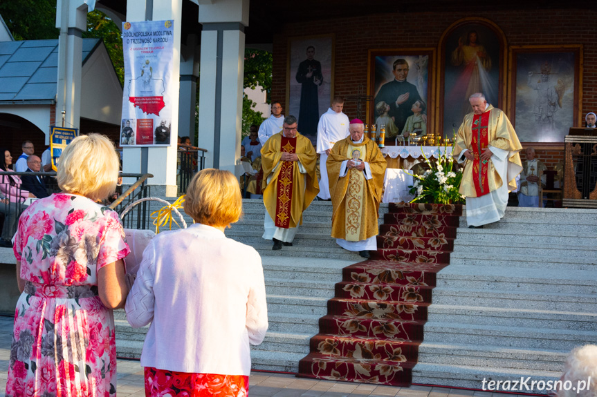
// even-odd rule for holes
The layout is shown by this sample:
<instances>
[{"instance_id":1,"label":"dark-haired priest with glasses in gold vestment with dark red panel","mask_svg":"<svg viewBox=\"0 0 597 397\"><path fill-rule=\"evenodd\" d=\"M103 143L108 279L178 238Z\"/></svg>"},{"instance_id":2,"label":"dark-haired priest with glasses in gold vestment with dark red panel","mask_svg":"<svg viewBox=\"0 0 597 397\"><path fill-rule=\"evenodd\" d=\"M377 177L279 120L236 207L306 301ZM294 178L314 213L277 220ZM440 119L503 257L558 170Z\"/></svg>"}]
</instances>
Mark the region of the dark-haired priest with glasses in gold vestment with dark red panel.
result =
<instances>
[{"instance_id":1,"label":"dark-haired priest with glasses in gold vestment with dark red panel","mask_svg":"<svg viewBox=\"0 0 597 397\"><path fill-rule=\"evenodd\" d=\"M261 148L267 210L263 238L273 240L272 249L293 244L298 225L302 224L302 213L319 192L316 159L309 138L297 132L294 116L286 117L282 131L272 135Z\"/></svg>"}]
</instances>

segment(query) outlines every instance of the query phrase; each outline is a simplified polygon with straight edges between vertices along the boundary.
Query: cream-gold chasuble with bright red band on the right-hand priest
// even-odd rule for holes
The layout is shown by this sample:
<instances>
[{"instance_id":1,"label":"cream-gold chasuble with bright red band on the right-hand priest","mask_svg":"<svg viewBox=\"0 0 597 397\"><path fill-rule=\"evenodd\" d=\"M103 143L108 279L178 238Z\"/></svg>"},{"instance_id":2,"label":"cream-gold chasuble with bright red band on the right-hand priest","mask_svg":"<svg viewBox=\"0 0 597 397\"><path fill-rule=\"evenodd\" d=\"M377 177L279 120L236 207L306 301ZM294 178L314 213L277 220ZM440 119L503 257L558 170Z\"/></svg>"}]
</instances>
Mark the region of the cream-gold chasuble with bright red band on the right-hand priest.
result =
<instances>
[{"instance_id":1,"label":"cream-gold chasuble with bright red band on the right-hand priest","mask_svg":"<svg viewBox=\"0 0 597 397\"><path fill-rule=\"evenodd\" d=\"M482 149L487 146L508 151L508 168L515 164L522 166L519 151L522 150L520 141L508 117L489 105L484 113L475 115L468 113L458 130L458 137L454 143L454 159L459 159L462 151L468 149L475 156L474 161L467 161L464 166L462 182L459 192L466 197L481 197L504 183L493 166L493 162L484 162L479 158ZM520 168L519 168L520 169ZM508 181L508 190L516 188L515 176Z\"/></svg>"}]
</instances>

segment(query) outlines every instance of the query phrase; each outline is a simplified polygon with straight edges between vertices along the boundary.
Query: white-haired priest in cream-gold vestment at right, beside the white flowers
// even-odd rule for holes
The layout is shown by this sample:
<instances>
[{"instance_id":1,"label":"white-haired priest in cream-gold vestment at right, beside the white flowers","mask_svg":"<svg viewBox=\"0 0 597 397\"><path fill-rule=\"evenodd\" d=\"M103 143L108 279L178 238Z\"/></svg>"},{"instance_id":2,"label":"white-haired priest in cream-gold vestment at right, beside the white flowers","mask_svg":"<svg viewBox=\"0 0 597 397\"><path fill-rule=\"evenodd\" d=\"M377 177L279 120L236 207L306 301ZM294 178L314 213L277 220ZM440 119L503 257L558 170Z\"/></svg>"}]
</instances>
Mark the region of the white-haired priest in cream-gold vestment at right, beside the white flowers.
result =
<instances>
[{"instance_id":1,"label":"white-haired priest in cream-gold vestment at right, beside the white flowers","mask_svg":"<svg viewBox=\"0 0 597 397\"><path fill-rule=\"evenodd\" d=\"M522 171L522 146L506 114L487 103L481 93L470 95L472 113L464 116L454 143L454 159L466 163L460 194L466 197L470 228L497 222L504 216L508 191Z\"/></svg>"}]
</instances>

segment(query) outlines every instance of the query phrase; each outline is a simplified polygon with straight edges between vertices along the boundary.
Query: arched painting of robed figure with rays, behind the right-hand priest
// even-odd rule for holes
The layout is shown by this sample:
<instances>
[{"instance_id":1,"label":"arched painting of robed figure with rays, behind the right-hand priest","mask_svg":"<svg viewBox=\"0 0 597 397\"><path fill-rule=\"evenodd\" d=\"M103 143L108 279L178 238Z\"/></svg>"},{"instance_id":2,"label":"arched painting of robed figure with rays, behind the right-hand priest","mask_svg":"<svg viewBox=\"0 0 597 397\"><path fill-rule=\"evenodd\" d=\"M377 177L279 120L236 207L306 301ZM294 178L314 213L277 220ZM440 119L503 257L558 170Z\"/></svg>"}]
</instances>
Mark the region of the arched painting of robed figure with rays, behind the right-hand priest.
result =
<instances>
[{"instance_id":1,"label":"arched painting of robed figure with rays, behind the right-hand priest","mask_svg":"<svg viewBox=\"0 0 597 397\"><path fill-rule=\"evenodd\" d=\"M465 18L452 23L440 42L439 131L451 138L472 112L468 98L483 93L489 104L506 106L506 38L492 21Z\"/></svg>"}]
</instances>

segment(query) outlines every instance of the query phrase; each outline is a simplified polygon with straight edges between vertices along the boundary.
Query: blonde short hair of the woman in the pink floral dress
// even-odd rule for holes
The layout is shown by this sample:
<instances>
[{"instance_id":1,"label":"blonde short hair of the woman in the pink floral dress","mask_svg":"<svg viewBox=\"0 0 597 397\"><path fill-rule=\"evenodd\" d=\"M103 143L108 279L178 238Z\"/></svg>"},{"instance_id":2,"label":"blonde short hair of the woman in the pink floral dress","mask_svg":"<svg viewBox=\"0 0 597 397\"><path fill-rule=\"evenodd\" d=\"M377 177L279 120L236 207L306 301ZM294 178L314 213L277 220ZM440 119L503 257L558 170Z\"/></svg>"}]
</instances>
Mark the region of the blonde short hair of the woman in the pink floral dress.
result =
<instances>
[{"instance_id":1,"label":"blonde short hair of the woman in the pink floral dress","mask_svg":"<svg viewBox=\"0 0 597 397\"><path fill-rule=\"evenodd\" d=\"M63 191L98 201L116 190L119 168L118 153L106 135L81 135L62 151L56 180Z\"/></svg>"}]
</instances>

